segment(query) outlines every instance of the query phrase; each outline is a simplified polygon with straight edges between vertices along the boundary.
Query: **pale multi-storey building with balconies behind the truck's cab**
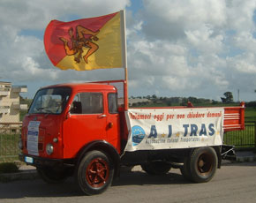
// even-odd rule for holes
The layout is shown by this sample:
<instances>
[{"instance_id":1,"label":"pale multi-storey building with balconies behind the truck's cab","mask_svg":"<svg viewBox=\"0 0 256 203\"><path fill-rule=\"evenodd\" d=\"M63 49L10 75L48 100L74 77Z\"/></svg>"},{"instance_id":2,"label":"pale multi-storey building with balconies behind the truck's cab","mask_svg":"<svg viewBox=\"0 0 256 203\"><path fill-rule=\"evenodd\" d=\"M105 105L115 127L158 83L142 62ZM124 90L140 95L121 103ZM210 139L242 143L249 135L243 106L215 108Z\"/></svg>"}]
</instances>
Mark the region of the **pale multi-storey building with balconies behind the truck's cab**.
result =
<instances>
[{"instance_id":1,"label":"pale multi-storey building with balconies behind the truck's cab","mask_svg":"<svg viewBox=\"0 0 256 203\"><path fill-rule=\"evenodd\" d=\"M0 81L0 123L18 123L19 110L27 109L19 103L19 94L26 93L26 86L11 86L10 82Z\"/></svg>"}]
</instances>

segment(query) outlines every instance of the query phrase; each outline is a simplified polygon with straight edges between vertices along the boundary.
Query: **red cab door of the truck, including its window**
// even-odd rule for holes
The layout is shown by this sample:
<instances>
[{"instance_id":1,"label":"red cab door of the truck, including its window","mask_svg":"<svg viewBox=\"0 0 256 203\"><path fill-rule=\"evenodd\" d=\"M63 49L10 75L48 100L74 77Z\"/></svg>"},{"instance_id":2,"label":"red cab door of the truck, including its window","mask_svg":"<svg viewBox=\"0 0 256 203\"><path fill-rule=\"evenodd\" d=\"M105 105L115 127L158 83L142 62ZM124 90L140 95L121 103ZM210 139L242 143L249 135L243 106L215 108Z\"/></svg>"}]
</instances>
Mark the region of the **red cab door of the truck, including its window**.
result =
<instances>
[{"instance_id":1,"label":"red cab door of the truck, including its window","mask_svg":"<svg viewBox=\"0 0 256 203\"><path fill-rule=\"evenodd\" d=\"M76 94L70 116L64 120L64 158L72 158L79 149L94 140L106 139L106 109L103 94Z\"/></svg>"}]
</instances>

